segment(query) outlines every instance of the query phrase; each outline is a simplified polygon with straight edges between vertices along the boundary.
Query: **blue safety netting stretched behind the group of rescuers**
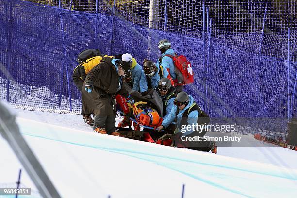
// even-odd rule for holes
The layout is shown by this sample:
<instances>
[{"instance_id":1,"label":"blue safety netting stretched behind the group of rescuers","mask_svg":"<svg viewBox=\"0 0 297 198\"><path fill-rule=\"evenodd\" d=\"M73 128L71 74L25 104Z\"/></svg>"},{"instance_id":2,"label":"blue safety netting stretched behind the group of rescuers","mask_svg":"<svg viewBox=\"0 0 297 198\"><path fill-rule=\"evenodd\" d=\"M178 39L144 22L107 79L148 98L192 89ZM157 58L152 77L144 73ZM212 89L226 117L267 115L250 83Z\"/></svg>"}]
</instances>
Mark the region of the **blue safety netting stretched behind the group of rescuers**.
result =
<instances>
[{"instance_id":1,"label":"blue safety netting stretched behind the group of rescuers","mask_svg":"<svg viewBox=\"0 0 297 198\"><path fill-rule=\"evenodd\" d=\"M211 17L213 26L205 31L202 1L167 0L166 31L165 0L158 1L159 19L152 24L149 1L116 0L114 11L114 1L61 0L61 9L59 1L50 2L0 0L0 99L16 107L79 113L81 95L71 78L79 52L98 48L110 55L131 53L142 64L144 58L157 61L157 43L167 38L176 53L191 61L195 83L186 91L211 117L282 118L265 121L262 128L284 134L286 118L297 116L297 29L296 18L290 17L296 12L294 1L285 1L276 13L280 6L266 1L206 0L206 26Z\"/></svg>"}]
</instances>

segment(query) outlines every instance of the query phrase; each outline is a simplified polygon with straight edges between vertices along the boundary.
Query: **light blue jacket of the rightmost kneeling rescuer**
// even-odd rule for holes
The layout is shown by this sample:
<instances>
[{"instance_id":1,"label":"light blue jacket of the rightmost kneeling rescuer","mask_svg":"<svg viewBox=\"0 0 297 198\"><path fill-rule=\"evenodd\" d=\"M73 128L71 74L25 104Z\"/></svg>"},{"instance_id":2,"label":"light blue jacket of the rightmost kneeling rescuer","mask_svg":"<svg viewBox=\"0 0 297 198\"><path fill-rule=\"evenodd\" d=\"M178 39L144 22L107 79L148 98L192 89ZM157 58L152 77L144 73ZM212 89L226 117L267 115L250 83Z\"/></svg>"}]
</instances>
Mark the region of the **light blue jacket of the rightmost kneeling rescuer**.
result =
<instances>
[{"instance_id":1,"label":"light blue jacket of the rightmost kneeling rescuer","mask_svg":"<svg viewBox=\"0 0 297 198\"><path fill-rule=\"evenodd\" d=\"M189 96L189 103L188 105L183 109L180 110L179 114L177 115L178 118L181 118L183 113L185 112L185 110L187 110L193 103L194 103L194 98L192 96ZM171 111L170 114L166 117L166 119L163 120L162 125L164 126L164 128L168 127L172 122L175 121L176 118L176 112L177 112L177 106L174 106ZM199 116L199 112L197 110L192 111L189 115L188 115L188 125L192 125L192 124L196 124L197 123L197 119ZM179 130L179 132L181 132L181 119L177 119L177 128ZM191 130L186 130L186 132L184 133L184 135L189 135L193 132L192 128Z\"/></svg>"}]
</instances>

